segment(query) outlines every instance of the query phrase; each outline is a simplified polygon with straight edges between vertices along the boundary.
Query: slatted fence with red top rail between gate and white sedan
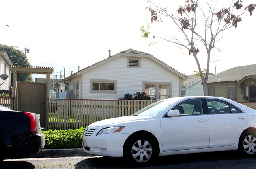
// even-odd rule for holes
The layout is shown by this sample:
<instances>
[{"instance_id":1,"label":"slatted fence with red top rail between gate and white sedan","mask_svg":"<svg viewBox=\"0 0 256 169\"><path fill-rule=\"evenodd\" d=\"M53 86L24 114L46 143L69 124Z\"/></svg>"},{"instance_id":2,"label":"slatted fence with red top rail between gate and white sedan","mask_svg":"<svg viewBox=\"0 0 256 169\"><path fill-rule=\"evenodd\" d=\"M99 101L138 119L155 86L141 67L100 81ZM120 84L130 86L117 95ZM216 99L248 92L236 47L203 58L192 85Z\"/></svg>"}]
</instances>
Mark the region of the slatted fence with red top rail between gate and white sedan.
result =
<instances>
[{"instance_id":1,"label":"slatted fence with red top rail between gate and white sedan","mask_svg":"<svg viewBox=\"0 0 256 169\"><path fill-rule=\"evenodd\" d=\"M127 116L155 101L47 99L47 129L77 129L103 119Z\"/></svg>"}]
</instances>

